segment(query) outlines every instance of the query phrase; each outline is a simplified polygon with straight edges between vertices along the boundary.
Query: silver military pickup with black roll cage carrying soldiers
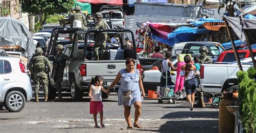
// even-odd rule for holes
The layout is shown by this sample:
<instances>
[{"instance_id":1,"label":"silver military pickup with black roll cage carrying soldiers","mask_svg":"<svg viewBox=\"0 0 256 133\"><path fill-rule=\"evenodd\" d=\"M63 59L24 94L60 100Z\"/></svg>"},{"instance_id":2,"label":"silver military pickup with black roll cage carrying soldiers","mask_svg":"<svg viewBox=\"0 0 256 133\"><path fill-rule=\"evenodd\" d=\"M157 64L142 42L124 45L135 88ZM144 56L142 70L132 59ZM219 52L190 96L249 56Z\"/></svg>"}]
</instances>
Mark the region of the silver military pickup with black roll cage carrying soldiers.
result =
<instances>
[{"instance_id":1,"label":"silver military pickup with black roll cage carrying soldiers","mask_svg":"<svg viewBox=\"0 0 256 133\"><path fill-rule=\"evenodd\" d=\"M65 29L57 29L55 32L57 34L67 33ZM70 29L72 32L72 30ZM95 52L93 49L94 45L94 34L96 32L107 32L108 35L118 34L120 38L120 47L113 47L113 45L106 45L106 52L103 53L103 60L94 60ZM104 78L103 86L107 87L113 82L117 73L120 69L125 68L125 59L134 58L136 59L136 50L127 49L125 44L124 34L131 34L132 39L133 33L129 29L89 29L89 30L79 30L74 32L74 40L71 43L59 43L57 36L53 39L53 43L50 48L50 54L48 56L52 68L53 58L56 55L55 47L59 44L65 45L64 54L69 56L69 60L66 61L66 67L64 69L63 82L61 83L63 91L70 92L71 99L73 101L81 101L83 98L83 93L89 91L89 86L91 78L96 75L101 75ZM83 40L78 40L78 36L87 36ZM109 43L110 40L107 40ZM133 44L133 47L136 47ZM140 69L139 61L136 60L135 68ZM54 80L51 78L51 73L49 74L49 99L54 99L56 97L56 89ZM118 88L119 85L114 86ZM108 95L103 93L103 98L107 98Z\"/></svg>"}]
</instances>

